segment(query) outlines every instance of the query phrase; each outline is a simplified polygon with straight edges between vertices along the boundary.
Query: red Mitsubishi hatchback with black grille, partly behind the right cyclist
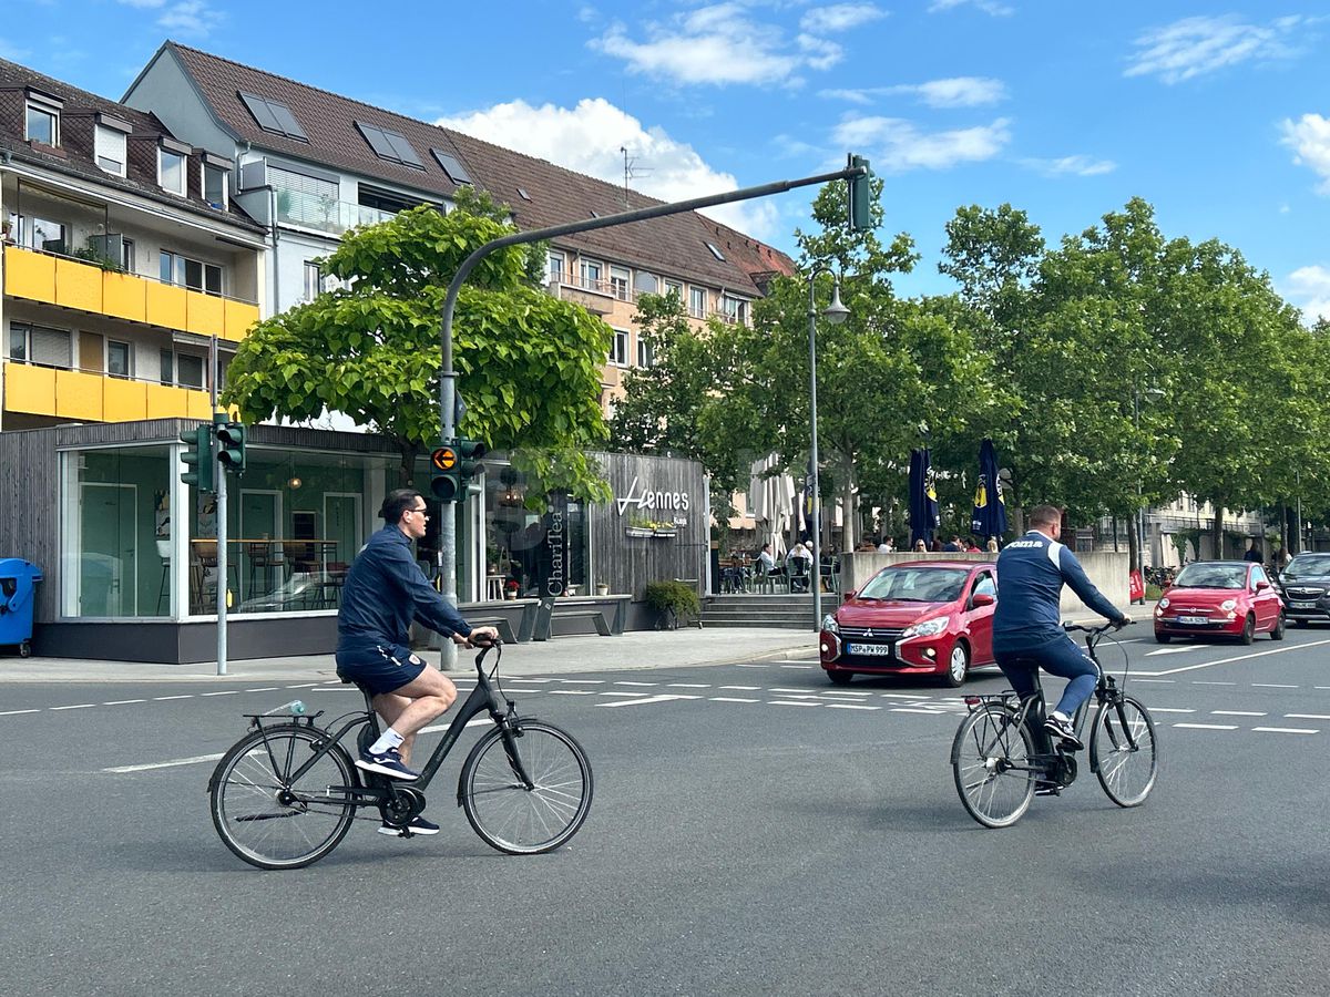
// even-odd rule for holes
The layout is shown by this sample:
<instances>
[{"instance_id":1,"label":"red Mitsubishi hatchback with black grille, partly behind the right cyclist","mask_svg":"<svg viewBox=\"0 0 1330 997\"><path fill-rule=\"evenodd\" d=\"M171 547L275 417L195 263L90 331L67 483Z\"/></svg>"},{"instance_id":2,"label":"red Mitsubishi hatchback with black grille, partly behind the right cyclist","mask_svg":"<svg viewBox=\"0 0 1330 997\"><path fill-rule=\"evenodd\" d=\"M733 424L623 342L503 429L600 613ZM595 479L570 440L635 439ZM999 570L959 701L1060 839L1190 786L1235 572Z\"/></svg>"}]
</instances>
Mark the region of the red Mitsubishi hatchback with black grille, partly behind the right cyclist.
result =
<instances>
[{"instance_id":1,"label":"red Mitsubishi hatchback with black grille, partly behind the right cyclist","mask_svg":"<svg viewBox=\"0 0 1330 997\"><path fill-rule=\"evenodd\" d=\"M883 568L822 621L822 667L855 674L938 675L948 686L991 665L998 596L992 564L908 561Z\"/></svg>"}]
</instances>

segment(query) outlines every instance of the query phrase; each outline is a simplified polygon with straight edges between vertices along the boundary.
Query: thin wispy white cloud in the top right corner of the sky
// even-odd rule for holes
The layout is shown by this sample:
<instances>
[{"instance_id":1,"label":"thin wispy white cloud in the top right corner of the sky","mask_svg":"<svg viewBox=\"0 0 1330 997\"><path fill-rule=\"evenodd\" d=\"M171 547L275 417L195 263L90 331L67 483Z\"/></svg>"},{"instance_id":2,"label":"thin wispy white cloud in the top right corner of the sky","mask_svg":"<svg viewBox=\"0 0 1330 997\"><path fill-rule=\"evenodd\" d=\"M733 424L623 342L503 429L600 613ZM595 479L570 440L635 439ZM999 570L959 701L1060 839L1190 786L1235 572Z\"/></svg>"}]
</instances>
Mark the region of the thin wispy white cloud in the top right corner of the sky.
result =
<instances>
[{"instance_id":1,"label":"thin wispy white cloud in the top right corner of the sky","mask_svg":"<svg viewBox=\"0 0 1330 997\"><path fill-rule=\"evenodd\" d=\"M1177 84L1240 62L1289 58L1295 55L1294 31L1305 21L1279 17L1260 25L1233 15L1184 17L1137 37L1137 52L1124 76L1158 76Z\"/></svg>"}]
</instances>

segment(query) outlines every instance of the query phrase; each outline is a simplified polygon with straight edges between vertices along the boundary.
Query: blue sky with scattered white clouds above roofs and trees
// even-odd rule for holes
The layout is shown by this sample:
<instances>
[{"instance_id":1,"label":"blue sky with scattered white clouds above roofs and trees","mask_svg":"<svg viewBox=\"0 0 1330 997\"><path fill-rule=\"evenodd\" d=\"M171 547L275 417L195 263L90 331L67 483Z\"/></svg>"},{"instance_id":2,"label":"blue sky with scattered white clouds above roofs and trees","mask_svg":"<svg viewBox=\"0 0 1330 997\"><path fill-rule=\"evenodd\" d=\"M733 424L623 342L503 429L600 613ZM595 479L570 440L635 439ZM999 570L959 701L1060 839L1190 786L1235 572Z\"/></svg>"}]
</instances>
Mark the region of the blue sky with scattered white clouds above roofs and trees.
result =
<instances>
[{"instance_id":1,"label":"blue sky with scattered white clouds above roofs and trees","mask_svg":"<svg viewBox=\"0 0 1330 997\"><path fill-rule=\"evenodd\" d=\"M608 179L626 148L633 186L670 199L854 150L923 253L904 294L948 290L960 205L1009 202L1056 241L1140 195L1330 316L1327 0L0 7L0 55L105 96L172 37ZM807 201L724 217L793 250Z\"/></svg>"}]
</instances>

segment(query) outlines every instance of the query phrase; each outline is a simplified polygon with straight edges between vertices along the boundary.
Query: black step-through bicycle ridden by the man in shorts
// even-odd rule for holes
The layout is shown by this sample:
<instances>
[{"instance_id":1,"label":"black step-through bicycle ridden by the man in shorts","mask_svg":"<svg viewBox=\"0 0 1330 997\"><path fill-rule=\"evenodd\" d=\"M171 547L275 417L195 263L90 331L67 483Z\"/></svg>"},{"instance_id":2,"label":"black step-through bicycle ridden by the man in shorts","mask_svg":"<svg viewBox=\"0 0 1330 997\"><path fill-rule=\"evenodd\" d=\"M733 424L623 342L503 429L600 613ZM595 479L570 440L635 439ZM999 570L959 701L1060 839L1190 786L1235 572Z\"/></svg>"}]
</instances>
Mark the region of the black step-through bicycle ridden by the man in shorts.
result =
<instances>
[{"instance_id":1,"label":"black step-through bicycle ridden by the man in shorts","mask_svg":"<svg viewBox=\"0 0 1330 997\"><path fill-rule=\"evenodd\" d=\"M309 717L243 714L250 732L222 756L207 782L222 841L251 865L295 869L336 848L356 819L382 819L411 836L408 824L424 810L424 790L467 722L487 711L493 728L471 748L458 779L458 804L471 827L485 844L509 855L549 852L568 841L591 810L587 752L555 724L517 715L499 685L501 650L485 673L492 647L499 643L476 655L476 687L411 783L362 771L340 743L356 728L359 750L378 740L379 718L368 693L363 713L343 714L327 727L315 723L322 710ZM358 818L360 807L378 810L378 816Z\"/></svg>"}]
</instances>

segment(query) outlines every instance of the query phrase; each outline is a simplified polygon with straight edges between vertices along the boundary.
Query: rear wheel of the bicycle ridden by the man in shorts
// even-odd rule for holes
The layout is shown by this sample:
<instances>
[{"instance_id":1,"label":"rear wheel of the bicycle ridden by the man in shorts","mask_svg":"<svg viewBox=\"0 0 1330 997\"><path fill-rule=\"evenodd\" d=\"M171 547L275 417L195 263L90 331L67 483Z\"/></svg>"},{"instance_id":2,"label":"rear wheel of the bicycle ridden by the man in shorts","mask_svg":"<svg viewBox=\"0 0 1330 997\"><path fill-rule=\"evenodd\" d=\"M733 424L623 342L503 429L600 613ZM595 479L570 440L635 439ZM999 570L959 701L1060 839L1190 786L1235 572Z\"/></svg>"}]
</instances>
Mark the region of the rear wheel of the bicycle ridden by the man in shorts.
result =
<instances>
[{"instance_id":1,"label":"rear wheel of the bicycle ridden by the man in shorts","mask_svg":"<svg viewBox=\"0 0 1330 997\"><path fill-rule=\"evenodd\" d=\"M326 734L287 724L246 735L217 763L207 783L213 826L222 843L261 869L318 861L346 837L355 804L332 786L356 786L355 767L335 744L295 782L290 775Z\"/></svg>"}]
</instances>

